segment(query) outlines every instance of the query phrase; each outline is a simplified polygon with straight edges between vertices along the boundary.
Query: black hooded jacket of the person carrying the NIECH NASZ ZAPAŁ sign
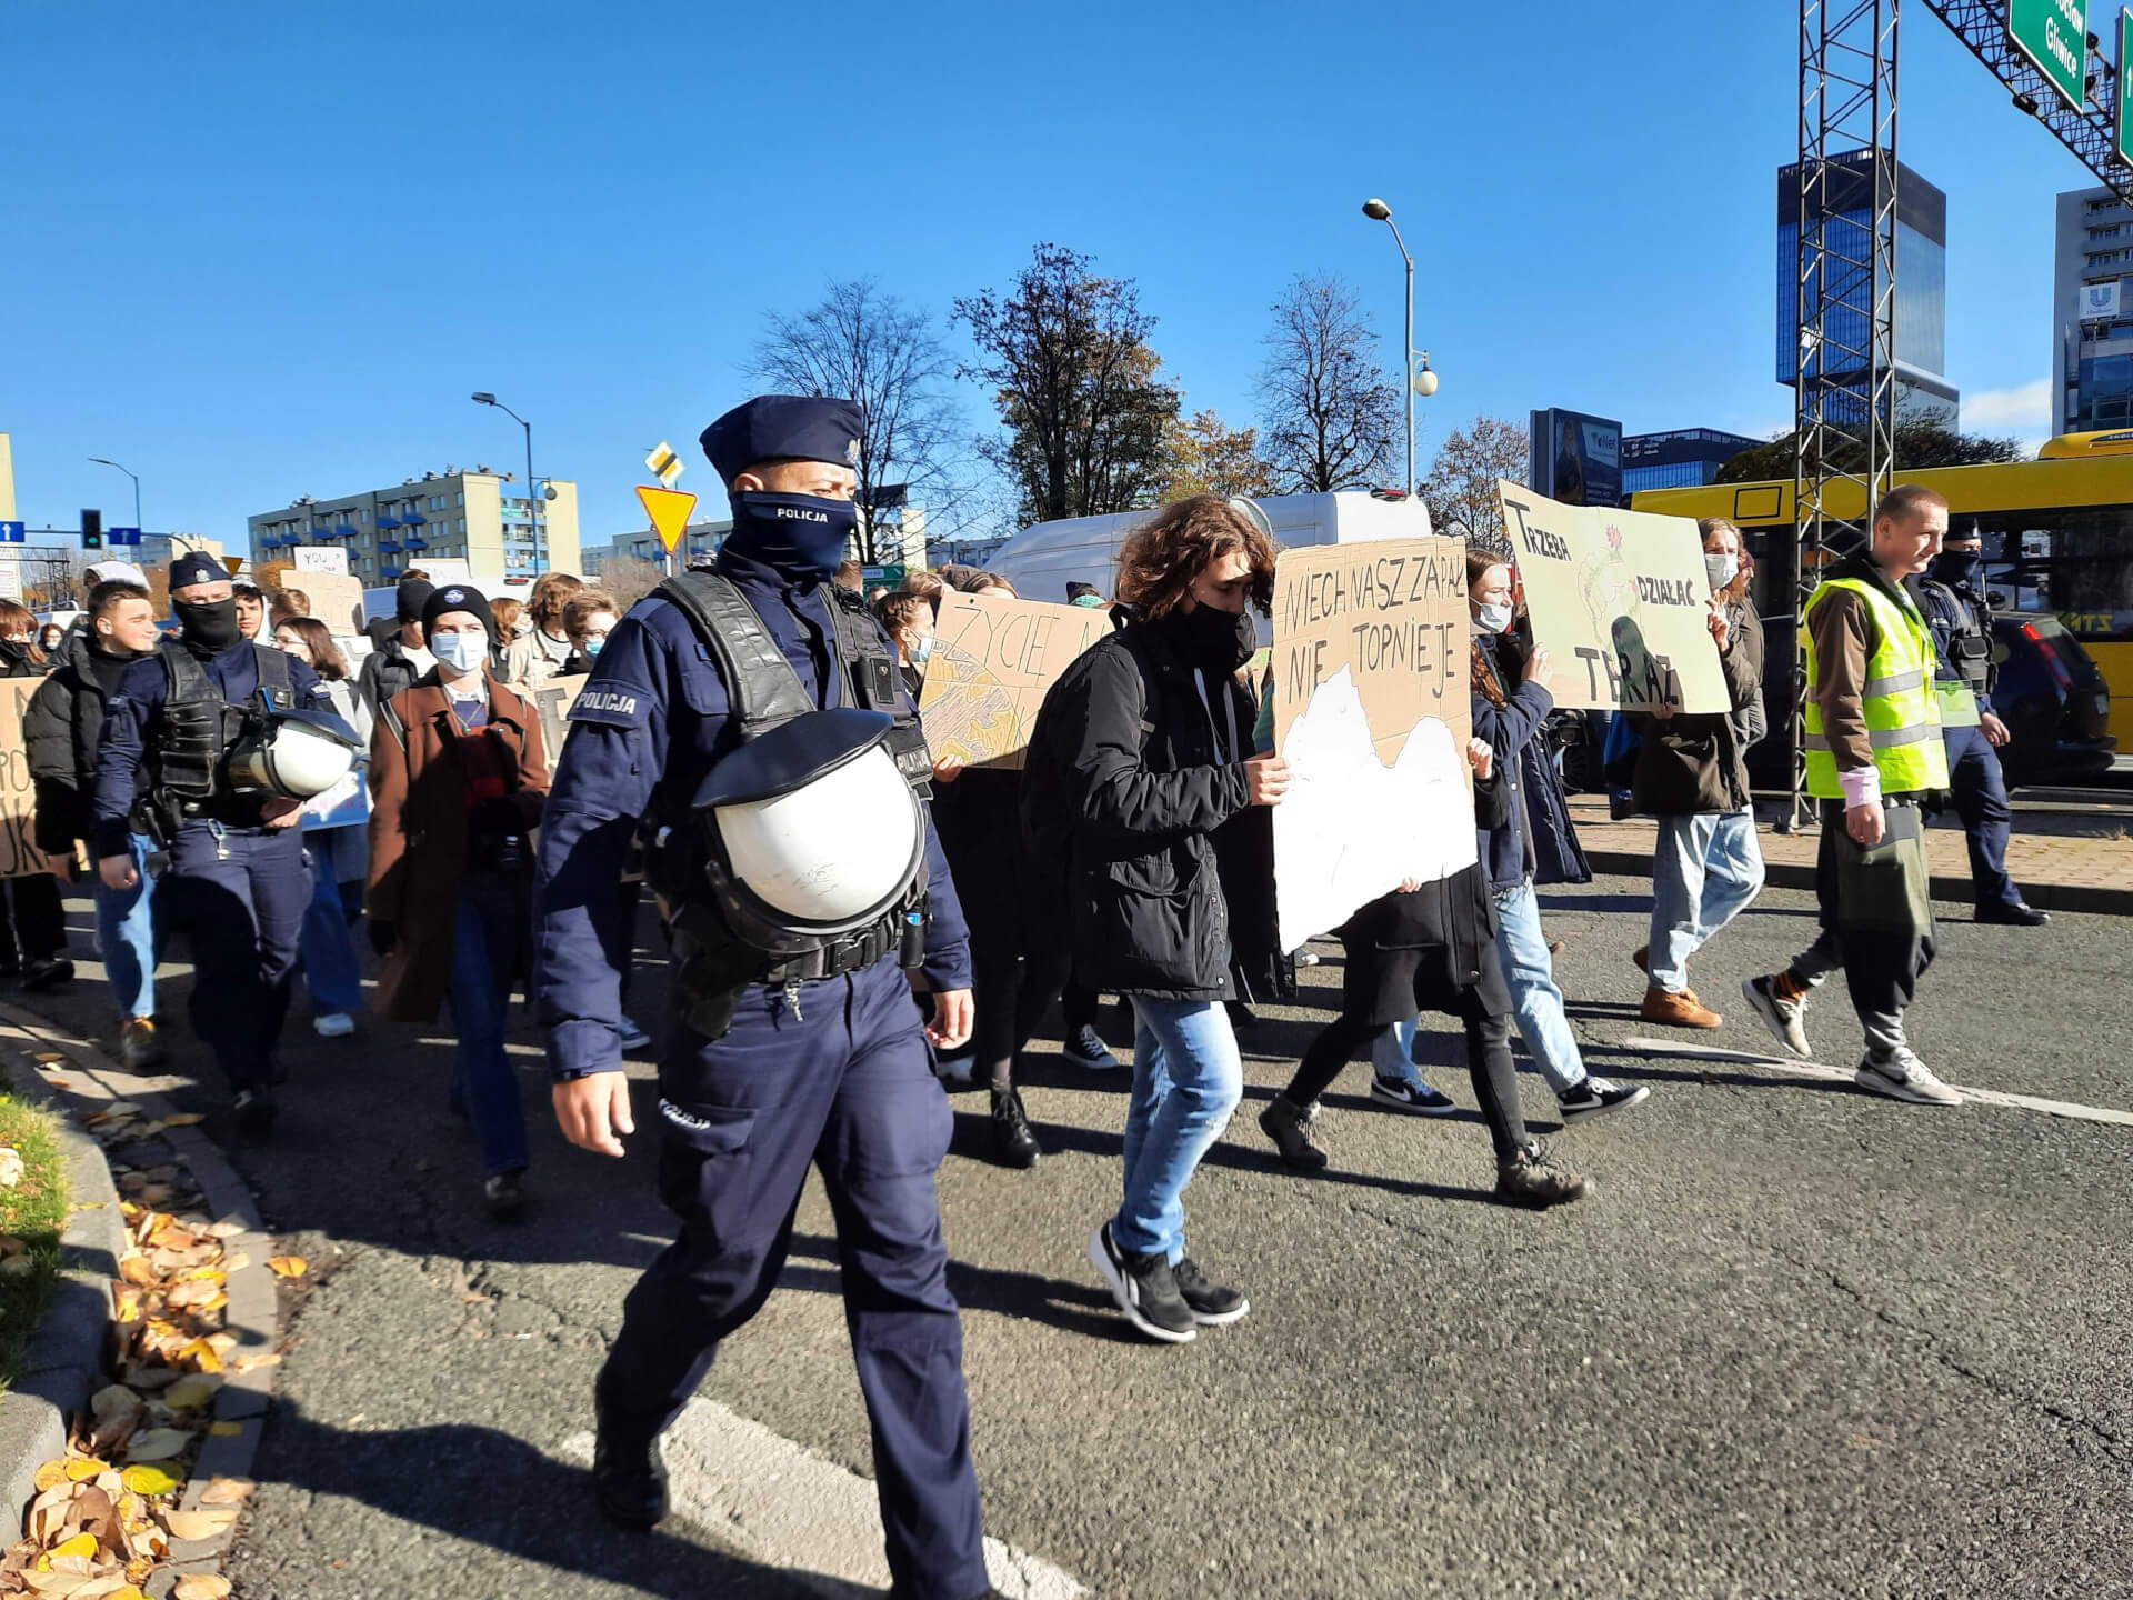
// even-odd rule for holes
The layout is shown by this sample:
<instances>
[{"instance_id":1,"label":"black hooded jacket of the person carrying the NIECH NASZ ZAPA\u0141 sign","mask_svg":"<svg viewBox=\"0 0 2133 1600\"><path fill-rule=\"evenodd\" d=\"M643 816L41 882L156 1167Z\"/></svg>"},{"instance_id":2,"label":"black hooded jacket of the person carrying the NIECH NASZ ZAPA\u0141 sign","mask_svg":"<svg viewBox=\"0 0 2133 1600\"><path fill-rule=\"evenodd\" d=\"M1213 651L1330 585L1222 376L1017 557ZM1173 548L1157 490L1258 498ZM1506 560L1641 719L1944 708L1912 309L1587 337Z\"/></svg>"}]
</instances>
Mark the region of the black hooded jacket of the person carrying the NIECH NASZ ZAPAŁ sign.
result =
<instances>
[{"instance_id":1,"label":"black hooded jacket of the person carrying the NIECH NASZ ZAPA\u0141 sign","mask_svg":"<svg viewBox=\"0 0 2133 1600\"><path fill-rule=\"evenodd\" d=\"M1066 668L1037 715L1022 819L1084 986L1224 1001L1214 834L1250 804L1237 757L1256 708L1231 672L1203 670L1209 715L1186 638L1180 619L1133 623Z\"/></svg>"}]
</instances>

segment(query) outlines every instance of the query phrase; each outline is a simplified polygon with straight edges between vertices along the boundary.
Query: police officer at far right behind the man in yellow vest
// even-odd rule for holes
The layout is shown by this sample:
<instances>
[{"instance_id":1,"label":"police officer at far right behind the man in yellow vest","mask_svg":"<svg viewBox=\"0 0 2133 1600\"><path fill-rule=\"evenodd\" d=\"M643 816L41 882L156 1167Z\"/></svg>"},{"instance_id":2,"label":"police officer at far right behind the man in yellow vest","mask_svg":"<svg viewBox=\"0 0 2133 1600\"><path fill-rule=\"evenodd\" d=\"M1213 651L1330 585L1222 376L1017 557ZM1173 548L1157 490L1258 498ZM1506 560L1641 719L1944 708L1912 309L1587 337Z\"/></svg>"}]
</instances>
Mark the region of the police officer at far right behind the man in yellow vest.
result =
<instances>
[{"instance_id":1,"label":"police officer at far right behind the man in yellow vest","mask_svg":"<svg viewBox=\"0 0 2133 1600\"><path fill-rule=\"evenodd\" d=\"M1999 747L2007 723L1992 715L1992 599L1982 576L1984 540L1977 529L1950 531L1941 555L1924 576L1911 580L1920 612L1932 629L1932 691L1941 702L1941 736L1947 742L1947 783L1956 815L1971 847L1971 892L1977 922L2035 928L2052 919L2022 900L2007 877L2007 834L2014 809L2001 774Z\"/></svg>"}]
</instances>

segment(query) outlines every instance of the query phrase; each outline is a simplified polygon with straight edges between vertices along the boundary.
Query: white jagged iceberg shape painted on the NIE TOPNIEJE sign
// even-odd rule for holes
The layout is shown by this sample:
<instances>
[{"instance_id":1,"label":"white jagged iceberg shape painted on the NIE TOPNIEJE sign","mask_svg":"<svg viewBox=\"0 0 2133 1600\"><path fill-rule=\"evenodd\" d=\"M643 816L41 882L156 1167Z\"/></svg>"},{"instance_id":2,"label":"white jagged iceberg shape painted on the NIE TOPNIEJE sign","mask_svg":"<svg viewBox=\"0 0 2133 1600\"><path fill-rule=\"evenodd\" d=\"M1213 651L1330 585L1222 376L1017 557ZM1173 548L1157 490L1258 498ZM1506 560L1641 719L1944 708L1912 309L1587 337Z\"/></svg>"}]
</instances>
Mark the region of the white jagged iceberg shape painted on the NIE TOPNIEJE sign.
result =
<instances>
[{"instance_id":1,"label":"white jagged iceberg shape painted on the NIE TOPNIEJE sign","mask_svg":"<svg viewBox=\"0 0 2133 1600\"><path fill-rule=\"evenodd\" d=\"M1337 928L1404 879L1433 883L1478 860L1474 794L1453 730L1423 717L1386 766L1348 668L1312 689L1282 753L1290 766L1273 809L1282 949Z\"/></svg>"}]
</instances>

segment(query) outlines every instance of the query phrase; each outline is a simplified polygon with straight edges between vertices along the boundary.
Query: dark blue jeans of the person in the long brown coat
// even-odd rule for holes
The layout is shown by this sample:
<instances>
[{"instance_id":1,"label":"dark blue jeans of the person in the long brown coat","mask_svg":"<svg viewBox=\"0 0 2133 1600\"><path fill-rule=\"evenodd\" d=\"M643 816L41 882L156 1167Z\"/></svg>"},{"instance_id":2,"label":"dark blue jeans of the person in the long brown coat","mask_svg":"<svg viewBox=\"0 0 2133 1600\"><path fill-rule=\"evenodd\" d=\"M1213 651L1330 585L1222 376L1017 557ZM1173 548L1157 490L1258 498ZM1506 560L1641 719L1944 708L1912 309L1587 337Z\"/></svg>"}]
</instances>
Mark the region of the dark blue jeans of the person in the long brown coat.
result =
<instances>
[{"instance_id":1,"label":"dark blue jeans of the person in the long brown coat","mask_svg":"<svg viewBox=\"0 0 2133 1600\"><path fill-rule=\"evenodd\" d=\"M452 926L452 1028L459 1060L452 1099L467 1107L491 1178L527 1167L527 1114L518 1101L518 1073L503 1054L503 1026L512 979L525 947L527 924L518 887L510 881L469 877L459 887Z\"/></svg>"}]
</instances>

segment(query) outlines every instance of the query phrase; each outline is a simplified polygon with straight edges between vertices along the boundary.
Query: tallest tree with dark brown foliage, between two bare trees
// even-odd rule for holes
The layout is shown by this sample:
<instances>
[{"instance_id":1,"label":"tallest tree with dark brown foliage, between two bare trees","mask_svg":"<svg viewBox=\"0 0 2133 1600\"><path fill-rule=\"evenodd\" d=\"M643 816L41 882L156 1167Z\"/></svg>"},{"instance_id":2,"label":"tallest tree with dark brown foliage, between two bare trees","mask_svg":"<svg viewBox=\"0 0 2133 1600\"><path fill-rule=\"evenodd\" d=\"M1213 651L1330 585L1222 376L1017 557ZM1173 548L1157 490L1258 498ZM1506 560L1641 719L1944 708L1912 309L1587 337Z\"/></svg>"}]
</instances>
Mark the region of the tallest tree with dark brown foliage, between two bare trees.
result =
<instances>
[{"instance_id":1,"label":"tallest tree with dark brown foliage, between two bare trees","mask_svg":"<svg viewBox=\"0 0 2133 1600\"><path fill-rule=\"evenodd\" d=\"M1041 243L1005 297L956 301L992 384L1005 437L985 457L1015 484L1028 521L1101 516L1162 489L1177 388L1148 348L1156 320L1130 277L1098 277L1090 256Z\"/></svg>"}]
</instances>

